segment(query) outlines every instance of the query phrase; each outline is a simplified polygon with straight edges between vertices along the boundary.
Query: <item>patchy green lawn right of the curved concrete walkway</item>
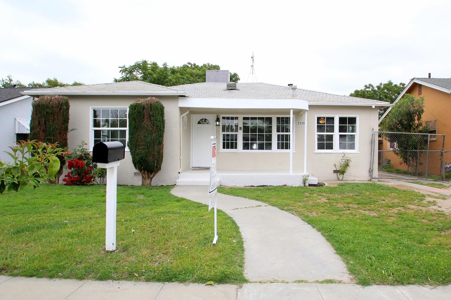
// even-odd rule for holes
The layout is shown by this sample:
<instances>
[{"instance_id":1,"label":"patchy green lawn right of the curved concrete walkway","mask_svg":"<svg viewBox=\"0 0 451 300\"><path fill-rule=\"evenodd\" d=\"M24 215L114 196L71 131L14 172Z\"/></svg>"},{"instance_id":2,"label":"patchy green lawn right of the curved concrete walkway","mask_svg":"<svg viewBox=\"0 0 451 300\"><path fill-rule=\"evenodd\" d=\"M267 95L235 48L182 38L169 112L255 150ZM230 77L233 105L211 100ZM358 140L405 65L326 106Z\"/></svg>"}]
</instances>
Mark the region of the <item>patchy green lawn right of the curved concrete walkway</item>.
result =
<instances>
[{"instance_id":1,"label":"patchy green lawn right of the curved concrete walkway","mask_svg":"<svg viewBox=\"0 0 451 300\"><path fill-rule=\"evenodd\" d=\"M377 183L219 192L299 216L326 237L359 284L451 283L451 216L428 209L418 192Z\"/></svg>"}]
</instances>

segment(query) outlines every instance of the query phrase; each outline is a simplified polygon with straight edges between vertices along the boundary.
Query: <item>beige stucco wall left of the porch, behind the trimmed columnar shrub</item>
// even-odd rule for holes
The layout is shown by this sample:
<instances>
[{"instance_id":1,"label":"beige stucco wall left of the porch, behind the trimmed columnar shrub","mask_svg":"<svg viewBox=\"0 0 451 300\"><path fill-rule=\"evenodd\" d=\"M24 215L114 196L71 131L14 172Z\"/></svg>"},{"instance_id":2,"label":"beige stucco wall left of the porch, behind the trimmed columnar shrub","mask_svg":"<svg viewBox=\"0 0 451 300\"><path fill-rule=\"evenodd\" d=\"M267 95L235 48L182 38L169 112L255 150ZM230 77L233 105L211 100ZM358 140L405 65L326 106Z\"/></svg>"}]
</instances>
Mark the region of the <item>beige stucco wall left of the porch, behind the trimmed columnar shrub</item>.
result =
<instances>
[{"instance_id":1,"label":"beige stucco wall left of the porch, behind the trimmed columnar shrub","mask_svg":"<svg viewBox=\"0 0 451 300\"><path fill-rule=\"evenodd\" d=\"M69 104L69 150L83 140L89 146L91 107L128 107L136 99L144 96L70 96ZM165 106L164 156L161 171L152 181L152 185L173 185L179 171L179 106L177 96L159 96ZM141 177L132 164L130 152L125 152L125 159L118 167L118 184L141 185Z\"/></svg>"}]
</instances>

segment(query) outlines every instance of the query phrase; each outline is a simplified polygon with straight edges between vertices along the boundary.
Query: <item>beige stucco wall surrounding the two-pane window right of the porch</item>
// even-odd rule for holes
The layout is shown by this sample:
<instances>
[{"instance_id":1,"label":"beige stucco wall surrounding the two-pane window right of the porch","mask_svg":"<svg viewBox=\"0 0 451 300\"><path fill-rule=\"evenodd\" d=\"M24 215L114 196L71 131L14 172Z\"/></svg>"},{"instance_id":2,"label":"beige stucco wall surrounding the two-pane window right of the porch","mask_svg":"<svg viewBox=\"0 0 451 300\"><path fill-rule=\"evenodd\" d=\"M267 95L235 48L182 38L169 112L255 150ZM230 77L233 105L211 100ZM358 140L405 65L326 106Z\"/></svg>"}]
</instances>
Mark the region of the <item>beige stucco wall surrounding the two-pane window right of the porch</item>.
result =
<instances>
[{"instance_id":1,"label":"beige stucco wall surrounding the two-pane window right of the porch","mask_svg":"<svg viewBox=\"0 0 451 300\"><path fill-rule=\"evenodd\" d=\"M333 164L338 164L343 152L336 153L315 153L315 116L318 115L357 115L359 152L346 153L352 159L350 168L345 175L345 180L368 180L371 158L371 132L372 128L377 130L378 108L371 106L330 106L330 105L310 105L308 112L308 132L307 132L307 172L321 182L323 180L336 179L333 173ZM377 142L377 141L376 141ZM377 159L377 145L376 156ZM376 164L377 165L377 164ZM377 174L377 169L376 169Z\"/></svg>"}]
</instances>

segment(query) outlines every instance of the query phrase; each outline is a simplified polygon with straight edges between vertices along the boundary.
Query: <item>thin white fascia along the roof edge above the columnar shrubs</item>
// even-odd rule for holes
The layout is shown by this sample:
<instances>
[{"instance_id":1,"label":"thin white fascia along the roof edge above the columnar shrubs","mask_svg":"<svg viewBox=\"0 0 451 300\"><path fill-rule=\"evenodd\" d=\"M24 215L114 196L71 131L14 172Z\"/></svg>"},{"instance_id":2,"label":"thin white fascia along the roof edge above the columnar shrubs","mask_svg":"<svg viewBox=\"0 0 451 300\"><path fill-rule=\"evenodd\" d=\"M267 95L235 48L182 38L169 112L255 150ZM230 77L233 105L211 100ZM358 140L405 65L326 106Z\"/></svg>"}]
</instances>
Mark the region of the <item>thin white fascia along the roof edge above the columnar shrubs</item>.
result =
<instances>
[{"instance_id":1,"label":"thin white fascia along the roof edge above the columnar shrubs","mask_svg":"<svg viewBox=\"0 0 451 300\"><path fill-rule=\"evenodd\" d=\"M23 91L23 95L149 95L149 96L187 96L186 91Z\"/></svg>"}]
</instances>

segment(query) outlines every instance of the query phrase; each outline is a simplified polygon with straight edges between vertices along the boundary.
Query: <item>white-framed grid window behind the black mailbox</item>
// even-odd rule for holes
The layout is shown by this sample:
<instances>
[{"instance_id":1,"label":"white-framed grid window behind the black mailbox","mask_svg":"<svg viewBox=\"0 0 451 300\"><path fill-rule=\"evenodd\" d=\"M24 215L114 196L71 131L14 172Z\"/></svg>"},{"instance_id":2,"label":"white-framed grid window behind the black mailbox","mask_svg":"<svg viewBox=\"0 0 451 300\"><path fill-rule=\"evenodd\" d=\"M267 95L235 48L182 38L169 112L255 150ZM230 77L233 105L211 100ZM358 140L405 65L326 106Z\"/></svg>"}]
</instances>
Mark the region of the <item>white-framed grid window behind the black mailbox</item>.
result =
<instances>
[{"instance_id":1,"label":"white-framed grid window behind the black mailbox","mask_svg":"<svg viewBox=\"0 0 451 300\"><path fill-rule=\"evenodd\" d=\"M92 107L90 149L99 141L120 141L128 150L128 125L127 107Z\"/></svg>"}]
</instances>

